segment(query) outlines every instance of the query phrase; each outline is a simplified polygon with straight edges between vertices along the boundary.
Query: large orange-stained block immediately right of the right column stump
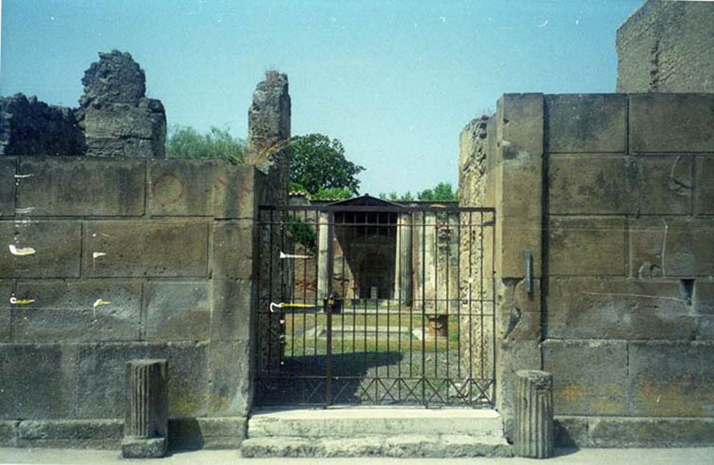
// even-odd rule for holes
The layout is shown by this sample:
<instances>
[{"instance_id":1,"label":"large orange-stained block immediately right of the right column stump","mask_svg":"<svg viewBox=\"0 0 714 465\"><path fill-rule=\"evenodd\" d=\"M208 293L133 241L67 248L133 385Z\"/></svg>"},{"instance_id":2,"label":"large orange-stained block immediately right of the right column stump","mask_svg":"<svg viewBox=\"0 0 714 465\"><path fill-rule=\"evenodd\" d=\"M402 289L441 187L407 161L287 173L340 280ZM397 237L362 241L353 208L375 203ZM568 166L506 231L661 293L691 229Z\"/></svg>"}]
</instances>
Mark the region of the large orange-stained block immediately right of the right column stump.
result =
<instances>
[{"instance_id":1,"label":"large orange-stained block immediately right of the right column stump","mask_svg":"<svg viewBox=\"0 0 714 465\"><path fill-rule=\"evenodd\" d=\"M543 369L553 374L558 415L623 415L627 411L625 342L543 342Z\"/></svg>"}]
</instances>

